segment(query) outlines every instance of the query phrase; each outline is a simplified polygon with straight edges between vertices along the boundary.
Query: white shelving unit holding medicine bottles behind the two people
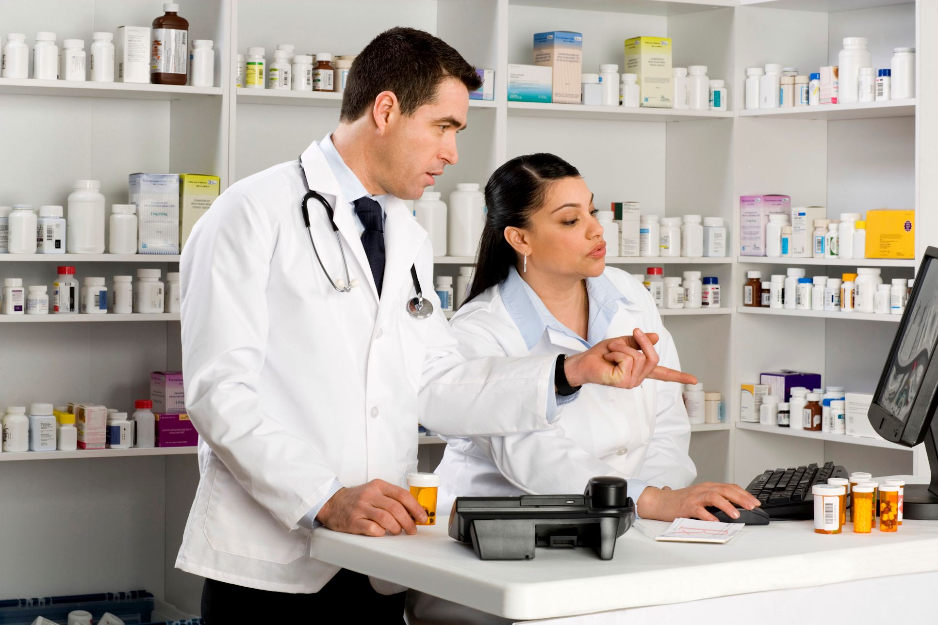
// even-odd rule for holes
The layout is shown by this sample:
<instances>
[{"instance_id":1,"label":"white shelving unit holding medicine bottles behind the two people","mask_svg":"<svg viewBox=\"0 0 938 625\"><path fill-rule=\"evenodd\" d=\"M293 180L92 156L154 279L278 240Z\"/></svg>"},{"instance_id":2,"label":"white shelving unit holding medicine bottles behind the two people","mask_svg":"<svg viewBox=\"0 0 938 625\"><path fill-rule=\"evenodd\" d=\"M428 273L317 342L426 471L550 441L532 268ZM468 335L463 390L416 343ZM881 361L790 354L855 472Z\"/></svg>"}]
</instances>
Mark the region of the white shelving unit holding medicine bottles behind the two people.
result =
<instances>
[{"instance_id":1,"label":"white shelving unit holding medicine bottles behind the two people","mask_svg":"<svg viewBox=\"0 0 938 625\"><path fill-rule=\"evenodd\" d=\"M55 31L90 40L94 31L148 24L159 5L149 0L35 0L0 3L9 31ZM219 86L38 82L0 79L0 203L65 204L72 181L101 180L108 203L127 201L134 171L216 173L221 188L295 158L338 122L340 96L234 88L234 58L248 46L292 42L304 52L355 53L377 33L408 25L443 37L477 67L495 69L493 101L471 102L460 161L436 190L446 198L459 182L484 183L507 158L552 152L574 164L597 205L639 201L644 214L722 216L737 249L738 197L785 193L793 205L826 205L831 215L881 207L938 203L938 86L919 81L915 100L807 110L741 111L745 68L779 62L803 71L836 64L840 37L872 37L874 64L887 67L892 47L915 46L923 76L938 67L934 37L938 3L926 0L203 0L182 14L190 36L215 42ZM289 16L289 19L282 19ZM310 23L329 27L310 29ZM673 38L676 67L706 65L726 82L730 112L624 110L576 105L508 103L507 64L530 63L532 35L558 27L583 33L583 70L600 63L623 68L623 39ZM796 34L796 37L794 36ZM916 212L916 249L938 233L938 214ZM177 256L13 257L0 255L0 277L51 285L56 264L76 264L78 277L131 273L137 265L174 271ZM747 484L765 468L833 459L849 469L921 474L924 454L824 437L766 436L735 424L738 389L760 372L793 368L822 373L851 390L870 390L895 324L840 323L765 316L738 307L747 269L760 265L879 266L911 277L912 261L607 259L625 271L689 267L719 277L723 308L662 311L682 367L707 390L719 391L728 421L692 427L690 453L701 480ZM437 259L455 275L472 258ZM674 266L672 266L674 265ZM706 265L706 267L701 267ZM765 270L764 270L765 271ZM769 268L771 271L771 268ZM110 284L110 277L109 277ZM786 311L793 312L793 311ZM803 315L802 315L803 316ZM178 316L76 316L73 321L24 321L0 326L7 358L0 406L51 400L93 400L129 408L146 396L149 373L180 369ZM843 316L846 318L847 316ZM854 320L859 317L854 316ZM146 321L134 323L132 321ZM878 319L887 322L886 320ZM54 320L57 321L57 320ZM104 321L114 321L105 323ZM117 322L130 321L130 322ZM891 319L890 319L891 321ZM2 322L8 321L0 316ZM886 330L884 332L884 330ZM420 439L421 466L443 451ZM197 613L201 580L174 570L175 554L198 483L193 450L50 453L62 462L8 462L0 513L5 557L17 574L0 580L0 597L68 594L101 588L146 588L160 600ZM164 453L165 452L165 453ZM0 461L21 458L0 454ZM14 456L14 457L10 457ZM23 457L38 460L40 458ZM36 493L43 494L36 497ZM120 497L115 498L114 493ZM13 510L15 509L15 513ZM68 532L62 519L68 518ZM91 529L108 528L122 549L114 561ZM95 529L94 532L98 532ZM144 538L145 537L145 538ZM35 544L67 556L49 567ZM81 562L81 570L70 562Z\"/></svg>"}]
</instances>

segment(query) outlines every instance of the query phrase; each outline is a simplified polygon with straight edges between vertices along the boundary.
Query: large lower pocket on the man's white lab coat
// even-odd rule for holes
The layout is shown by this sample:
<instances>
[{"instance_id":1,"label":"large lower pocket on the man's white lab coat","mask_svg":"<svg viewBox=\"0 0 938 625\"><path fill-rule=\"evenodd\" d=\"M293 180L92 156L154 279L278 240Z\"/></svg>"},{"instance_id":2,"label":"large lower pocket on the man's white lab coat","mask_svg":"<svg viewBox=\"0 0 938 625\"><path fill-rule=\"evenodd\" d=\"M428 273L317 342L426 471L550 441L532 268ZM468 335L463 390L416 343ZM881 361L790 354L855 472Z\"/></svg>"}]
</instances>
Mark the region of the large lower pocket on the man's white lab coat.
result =
<instances>
[{"instance_id":1,"label":"large lower pocket on the man's white lab coat","mask_svg":"<svg viewBox=\"0 0 938 625\"><path fill-rule=\"evenodd\" d=\"M219 462L208 498L204 533L216 551L287 564L306 553L310 530L283 528Z\"/></svg>"}]
</instances>

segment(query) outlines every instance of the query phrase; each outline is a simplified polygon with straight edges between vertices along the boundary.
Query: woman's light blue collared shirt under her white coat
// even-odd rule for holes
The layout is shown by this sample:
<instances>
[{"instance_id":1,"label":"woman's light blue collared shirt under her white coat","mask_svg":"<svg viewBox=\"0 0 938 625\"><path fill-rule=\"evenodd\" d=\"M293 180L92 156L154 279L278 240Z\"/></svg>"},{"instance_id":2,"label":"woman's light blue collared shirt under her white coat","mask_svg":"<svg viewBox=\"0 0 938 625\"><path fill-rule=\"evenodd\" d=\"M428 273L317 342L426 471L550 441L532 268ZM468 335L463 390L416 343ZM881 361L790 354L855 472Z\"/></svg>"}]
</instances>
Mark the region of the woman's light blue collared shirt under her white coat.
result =
<instances>
[{"instance_id":1,"label":"woman's light blue collared shirt under her white coat","mask_svg":"<svg viewBox=\"0 0 938 625\"><path fill-rule=\"evenodd\" d=\"M613 281L606 275L586 278L589 320L586 338L584 339L552 315L540 297L537 296L537 293L534 292L534 289L524 281L514 267L508 269L508 277L499 285L499 292L511 320L515 322L519 332L522 333L524 344L527 345L528 350L533 350L540 341L541 336L549 329L576 339L582 344L584 350L588 350L606 339L606 333L609 332L609 326L613 322L615 313L619 310L620 303L632 310L641 310L642 308L616 289ZM556 394L551 394L551 396L555 397L557 404L566 404L577 394L579 394L579 391L567 397ZM553 423L557 418L556 409L553 409L552 414L550 404L548 405L547 414L548 420ZM648 484L635 478L628 478L627 482L628 496L637 502L642 497L642 493Z\"/></svg>"}]
</instances>

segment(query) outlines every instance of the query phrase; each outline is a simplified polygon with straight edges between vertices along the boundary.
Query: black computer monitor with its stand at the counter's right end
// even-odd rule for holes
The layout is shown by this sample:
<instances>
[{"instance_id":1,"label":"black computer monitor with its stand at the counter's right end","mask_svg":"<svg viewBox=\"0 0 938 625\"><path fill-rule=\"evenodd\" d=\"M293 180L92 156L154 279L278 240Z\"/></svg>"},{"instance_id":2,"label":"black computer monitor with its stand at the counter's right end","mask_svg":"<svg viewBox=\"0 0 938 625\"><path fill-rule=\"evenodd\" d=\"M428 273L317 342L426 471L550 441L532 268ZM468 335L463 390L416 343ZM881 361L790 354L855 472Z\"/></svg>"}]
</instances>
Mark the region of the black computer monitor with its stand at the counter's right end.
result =
<instances>
[{"instance_id":1,"label":"black computer monitor with its stand at the counter's right end","mask_svg":"<svg viewBox=\"0 0 938 625\"><path fill-rule=\"evenodd\" d=\"M868 417L886 440L924 442L930 484L906 484L903 516L938 520L938 247L925 252L915 286L892 341Z\"/></svg>"}]
</instances>

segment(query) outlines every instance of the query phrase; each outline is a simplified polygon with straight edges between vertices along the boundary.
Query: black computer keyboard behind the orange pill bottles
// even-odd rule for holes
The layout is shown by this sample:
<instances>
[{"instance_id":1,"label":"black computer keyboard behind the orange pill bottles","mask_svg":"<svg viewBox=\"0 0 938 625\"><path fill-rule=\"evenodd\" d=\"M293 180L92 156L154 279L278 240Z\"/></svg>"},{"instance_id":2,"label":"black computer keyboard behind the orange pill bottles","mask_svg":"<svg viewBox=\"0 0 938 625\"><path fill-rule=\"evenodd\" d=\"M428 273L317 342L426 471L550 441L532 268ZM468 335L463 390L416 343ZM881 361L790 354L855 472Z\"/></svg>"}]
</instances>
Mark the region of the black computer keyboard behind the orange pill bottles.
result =
<instances>
[{"instance_id":1,"label":"black computer keyboard behind the orange pill bottles","mask_svg":"<svg viewBox=\"0 0 938 625\"><path fill-rule=\"evenodd\" d=\"M765 469L757 475L746 490L759 499L762 509L773 519L814 518L814 501L811 486L827 484L828 478L846 478L847 469L825 462L788 469Z\"/></svg>"}]
</instances>

